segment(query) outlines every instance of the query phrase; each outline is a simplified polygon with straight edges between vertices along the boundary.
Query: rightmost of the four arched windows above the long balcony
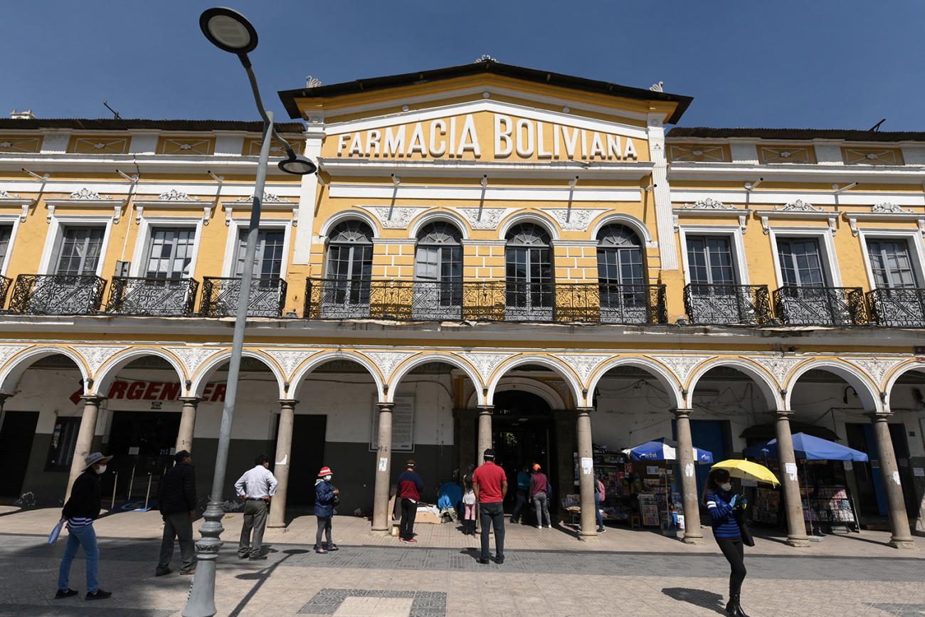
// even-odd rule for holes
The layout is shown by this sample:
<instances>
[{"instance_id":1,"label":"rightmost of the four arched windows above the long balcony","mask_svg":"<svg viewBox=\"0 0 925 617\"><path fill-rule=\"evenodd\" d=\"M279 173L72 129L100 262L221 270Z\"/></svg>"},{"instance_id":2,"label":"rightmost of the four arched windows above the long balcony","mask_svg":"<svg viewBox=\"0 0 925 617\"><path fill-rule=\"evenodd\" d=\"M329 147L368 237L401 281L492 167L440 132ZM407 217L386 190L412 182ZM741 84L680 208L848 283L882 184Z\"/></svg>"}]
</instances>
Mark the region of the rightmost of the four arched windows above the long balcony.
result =
<instances>
[{"instance_id":1,"label":"rightmost of the four arched windows above the long balcony","mask_svg":"<svg viewBox=\"0 0 925 617\"><path fill-rule=\"evenodd\" d=\"M632 228L606 225L598 231L600 318L605 323L648 323L648 290L643 287L642 243Z\"/></svg>"}]
</instances>

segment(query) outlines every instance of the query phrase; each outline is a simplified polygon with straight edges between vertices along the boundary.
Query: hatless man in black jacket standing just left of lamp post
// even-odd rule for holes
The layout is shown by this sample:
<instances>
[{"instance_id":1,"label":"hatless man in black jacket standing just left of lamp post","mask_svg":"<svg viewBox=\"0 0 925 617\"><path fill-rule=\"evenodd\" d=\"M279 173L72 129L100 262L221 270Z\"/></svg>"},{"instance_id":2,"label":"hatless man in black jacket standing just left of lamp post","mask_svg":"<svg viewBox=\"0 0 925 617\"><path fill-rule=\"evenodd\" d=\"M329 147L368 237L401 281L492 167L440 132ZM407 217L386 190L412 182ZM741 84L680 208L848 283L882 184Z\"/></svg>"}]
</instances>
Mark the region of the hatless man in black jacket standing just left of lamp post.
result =
<instances>
[{"instance_id":1,"label":"hatless man in black jacket standing just left of lamp post","mask_svg":"<svg viewBox=\"0 0 925 617\"><path fill-rule=\"evenodd\" d=\"M154 570L156 576L173 572L174 537L179 538L179 554L183 561L179 574L192 574L196 570L196 550L192 542L192 519L196 518L196 476L192 469L190 452L180 450L174 462L161 479L157 491L161 515L164 517L164 537L161 539L161 557Z\"/></svg>"}]
</instances>

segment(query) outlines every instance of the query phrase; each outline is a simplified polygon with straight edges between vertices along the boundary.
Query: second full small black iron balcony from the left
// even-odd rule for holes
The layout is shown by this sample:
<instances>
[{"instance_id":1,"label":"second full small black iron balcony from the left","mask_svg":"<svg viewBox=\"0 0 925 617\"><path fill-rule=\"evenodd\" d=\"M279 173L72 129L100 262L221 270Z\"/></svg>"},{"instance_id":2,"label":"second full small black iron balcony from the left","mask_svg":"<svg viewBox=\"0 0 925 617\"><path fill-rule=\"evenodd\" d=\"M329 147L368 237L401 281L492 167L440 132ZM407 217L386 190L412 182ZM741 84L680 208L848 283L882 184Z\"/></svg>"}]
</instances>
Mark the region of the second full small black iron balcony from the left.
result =
<instances>
[{"instance_id":1,"label":"second full small black iron balcony from the left","mask_svg":"<svg viewBox=\"0 0 925 617\"><path fill-rule=\"evenodd\" d=\"M194 278L114 277L106 313L185 317L192 315L199 282Z\"/></svg>"}]
</instances>

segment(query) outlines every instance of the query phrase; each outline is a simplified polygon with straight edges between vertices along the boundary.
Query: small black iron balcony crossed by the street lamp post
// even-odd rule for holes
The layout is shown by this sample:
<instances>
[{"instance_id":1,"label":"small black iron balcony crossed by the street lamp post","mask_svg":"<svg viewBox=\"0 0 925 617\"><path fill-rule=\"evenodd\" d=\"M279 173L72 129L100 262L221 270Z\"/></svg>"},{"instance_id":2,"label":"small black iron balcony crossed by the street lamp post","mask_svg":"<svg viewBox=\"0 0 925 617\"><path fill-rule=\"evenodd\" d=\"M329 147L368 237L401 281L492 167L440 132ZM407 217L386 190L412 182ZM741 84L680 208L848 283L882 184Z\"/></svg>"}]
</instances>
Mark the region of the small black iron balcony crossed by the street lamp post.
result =
<instances>
[{"instance_id":1,"label":"small black iron balcony crossed by the street lamp post","mask_svg":"<svg viewBox=\"0 0 925 617\"><path fill-rule=\"evenodd\" d=\"M226 317L238 310L240 278L203 277L203 317ZM249 317L279 317L286 303L286 281L282 278L253 278L247 300Z\"/></svg>"}]
</instances>

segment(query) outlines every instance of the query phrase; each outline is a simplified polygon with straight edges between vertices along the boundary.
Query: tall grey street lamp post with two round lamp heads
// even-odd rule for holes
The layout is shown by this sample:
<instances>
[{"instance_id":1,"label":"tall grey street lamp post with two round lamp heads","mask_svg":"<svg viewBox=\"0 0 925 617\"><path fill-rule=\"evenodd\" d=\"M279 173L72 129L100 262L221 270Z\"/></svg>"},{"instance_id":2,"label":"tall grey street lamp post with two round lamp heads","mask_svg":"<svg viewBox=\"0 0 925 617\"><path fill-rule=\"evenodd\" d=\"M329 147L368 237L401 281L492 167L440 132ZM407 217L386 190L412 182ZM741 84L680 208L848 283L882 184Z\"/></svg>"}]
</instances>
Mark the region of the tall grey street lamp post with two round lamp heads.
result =
<instances>
[{"instance_id":1,"label":"tall grey street lamp post with two round lamp heads","mask_svg":"<svg viewBox=\"0 0 925 617\"><path fill-rule=\"evenodd\" d=\"M260 159L257 164L257 178L253 189L253 208L251 221L247 229L247 248L244 252L244 269L240 276L238 308L235 312L234 337L231 342L231 358L228 362L228 389L225 394L225 407L222 410L222 424L218 434L218 451L216 453L216 472L212 478L212 493L209 504L203 512L205 522L200 528L203 537L196 544L196 574L192 579L190 597L183 609L183 617L212 617L216 614L216 560L218 549L222 546L221 537L222 490L225 485L225 471L228 463L228 445L231 441L231 423L234 419L235 401L238 394L238 376L240 373L241 350L244 346L244 327L247 322L247 305L251 296L253 280L253 262L257 253L257 234L260 229L260 205L264 198L266 166L269 162L270 143L273 140L286 148L287 158L280 161L278 167L296 175L313 174L317 167L303 156L295 154L290 143L279 136L273 126L273 112L266 111L257 88L257 79L253 74L248 52L257 46L257 31L243 15L229 8L210 8L199 18L199 26L205 37L219 49L236 54L247 71L251 81L253 99L257 104L260 117L264 120L264 136L260 146Z\"/></svg>"}]
</instances>

